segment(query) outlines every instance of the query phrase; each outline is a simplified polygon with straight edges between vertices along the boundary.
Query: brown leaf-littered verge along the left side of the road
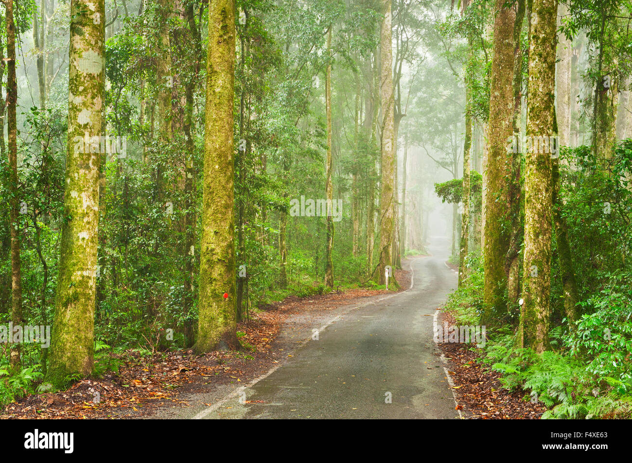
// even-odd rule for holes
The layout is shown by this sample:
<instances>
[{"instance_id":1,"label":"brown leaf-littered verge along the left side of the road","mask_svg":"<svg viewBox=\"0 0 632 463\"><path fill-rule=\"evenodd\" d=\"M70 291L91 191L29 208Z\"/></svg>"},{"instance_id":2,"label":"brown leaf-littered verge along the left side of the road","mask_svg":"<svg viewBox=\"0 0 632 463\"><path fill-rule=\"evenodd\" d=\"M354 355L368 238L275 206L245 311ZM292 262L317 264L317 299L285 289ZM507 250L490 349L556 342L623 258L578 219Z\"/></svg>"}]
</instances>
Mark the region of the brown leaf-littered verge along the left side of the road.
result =
<instances>
[{"instance_id":1,"label":"brown leaf-littered verge along the left side of the road","mask_svg":"<svg viewBox=\"0 0 632 463\"><path fill-rule=\"evenodd\" d=\"M409 272L394 273L403 289L410 286ZM152 418L157 409L187 407L186 397L191 394L209 394L209 402L219 400L227 388L248 383L291 357L304 342L306 330L310 334L340 306L389 292L357 288L306 298L289 296L238 323L237 331L243 333L241 351L197 355L181 350L142 356L130 349L120 356L118 373L87 378L64 391L27 395L0 410L0 418Z\"/></svg>"}]
</instances>

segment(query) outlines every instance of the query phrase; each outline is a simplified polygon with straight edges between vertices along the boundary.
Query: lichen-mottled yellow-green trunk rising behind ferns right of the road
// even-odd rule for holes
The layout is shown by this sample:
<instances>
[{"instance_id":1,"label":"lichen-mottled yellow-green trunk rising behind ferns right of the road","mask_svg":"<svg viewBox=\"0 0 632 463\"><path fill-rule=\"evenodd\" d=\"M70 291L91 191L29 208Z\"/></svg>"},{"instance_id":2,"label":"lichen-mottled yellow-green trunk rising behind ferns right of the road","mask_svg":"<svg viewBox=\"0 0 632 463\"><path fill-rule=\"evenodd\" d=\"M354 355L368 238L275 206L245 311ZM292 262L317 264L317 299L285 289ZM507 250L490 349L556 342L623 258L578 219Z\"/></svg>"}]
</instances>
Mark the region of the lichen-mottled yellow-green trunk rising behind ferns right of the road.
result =
<instances>
[{"instance_id":1,"label":"lichen-mottled yellow-green trunk rising behind ferns right of the road","mask_svg":"<svg viewBox=\"0 0 632 463\"><path fill-rule=\"evenodd\" d=\"M529 47L527 135L557 135L554 107L557 0L533 0ZM537 78L535 78L537 76ZM553 133L552 133L553 132ZM549 150L526 153L525 272L520 332L523 346L543 352L549 340L552 164ZM542 153L542 151L545 151Z\"/></svg>"}]
</instances>

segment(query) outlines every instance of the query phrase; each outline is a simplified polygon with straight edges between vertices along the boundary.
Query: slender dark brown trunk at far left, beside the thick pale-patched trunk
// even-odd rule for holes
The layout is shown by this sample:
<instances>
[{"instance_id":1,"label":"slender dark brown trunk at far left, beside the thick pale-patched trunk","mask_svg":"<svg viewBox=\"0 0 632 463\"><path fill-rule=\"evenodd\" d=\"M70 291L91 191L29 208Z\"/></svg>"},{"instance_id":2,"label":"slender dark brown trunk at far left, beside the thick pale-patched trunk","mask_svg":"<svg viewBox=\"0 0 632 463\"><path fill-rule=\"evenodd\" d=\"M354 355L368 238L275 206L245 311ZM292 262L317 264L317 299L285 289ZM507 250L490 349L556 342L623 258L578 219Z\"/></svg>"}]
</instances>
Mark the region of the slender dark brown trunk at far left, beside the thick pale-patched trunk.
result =
<instances>
[{"instance_id":1,"label":"slender dark brown trunk at far left, beside the thick pale-patched trunk","mask_svg":"<svg viewBox=\"0 0 632 463\"><path fill-rule=\"evenodd\" d=\"M14 327L22 325L22 283L20 265L20 193L18 189L18 127L16 105L18 85L15 79L15 24L13 23L13 0L6 0L6 104L8 109L9 135L9 228L11 229L11 322ZM4 135L3 135L4 138ZM20 344L11 344L12 368L20 366Z\"/></svg>"}]
</instances>

